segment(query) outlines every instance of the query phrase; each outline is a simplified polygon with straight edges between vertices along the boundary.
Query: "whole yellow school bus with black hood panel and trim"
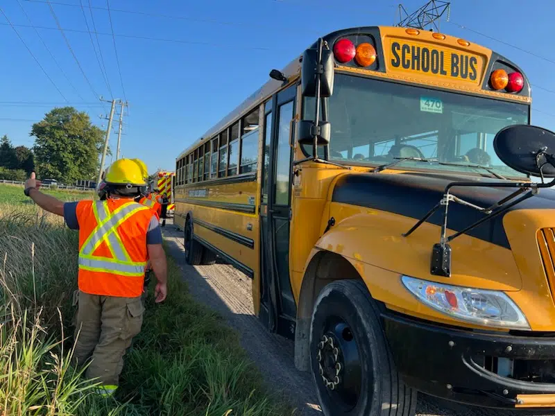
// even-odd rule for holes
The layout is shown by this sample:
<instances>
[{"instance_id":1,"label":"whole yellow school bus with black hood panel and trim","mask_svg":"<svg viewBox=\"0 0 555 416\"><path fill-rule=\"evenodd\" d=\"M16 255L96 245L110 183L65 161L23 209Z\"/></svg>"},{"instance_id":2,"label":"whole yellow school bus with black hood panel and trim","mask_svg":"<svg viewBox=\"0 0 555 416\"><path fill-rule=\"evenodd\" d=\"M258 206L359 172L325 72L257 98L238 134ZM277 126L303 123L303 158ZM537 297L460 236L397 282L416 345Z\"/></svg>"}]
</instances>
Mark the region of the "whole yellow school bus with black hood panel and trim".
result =
<instances>
[{"instance_id":1,"label":"whole yellow school bus with black hood panel and trim","mask_svg":"<svg viewBox=\"0 0 555 416\"><path fill-rule=\"evenodd\" d=\"M413 415L419 391L554 408L555 198L531 181L551 136L530 106L484 46L325 35L177 157L187 261L252 279L325 415Z\"/></svg>"}]
</instances>

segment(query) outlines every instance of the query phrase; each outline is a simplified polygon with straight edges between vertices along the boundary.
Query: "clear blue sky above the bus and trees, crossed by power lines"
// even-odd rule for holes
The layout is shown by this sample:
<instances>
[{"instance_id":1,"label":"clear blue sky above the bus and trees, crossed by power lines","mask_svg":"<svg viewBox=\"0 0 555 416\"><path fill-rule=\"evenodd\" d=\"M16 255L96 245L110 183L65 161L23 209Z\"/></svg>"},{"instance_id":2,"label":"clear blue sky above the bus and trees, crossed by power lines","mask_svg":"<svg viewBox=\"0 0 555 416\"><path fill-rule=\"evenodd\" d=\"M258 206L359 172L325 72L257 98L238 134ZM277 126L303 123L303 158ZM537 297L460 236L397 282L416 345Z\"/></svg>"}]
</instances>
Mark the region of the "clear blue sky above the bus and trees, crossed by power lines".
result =
<instances>
[{"instance_id":1,"label":"clear blue sky above the bus and trees, crossed by power lines","mask_svg":"<svg viewBox=\"0 0 555 416\"><path fill-rule=\"evenodd\" d=\"M97 95L111 98L109 86L114 98L126 98L130 104L121 153L144 159L152 172L173 170L183 148L266 82L271 69L284 67L318 35L339 28L394 24L399 1L109 0L123 87L106 1L90 3L108 85L83 16L85 12L92 30L89 0L51 0L84 75L46 0L2 2L1 9L65 98L0 13L0 135L7 134L16 146L33 146L28 135L32 123L54 105L64 105L65 99L89 112L94 123L107 125L98 116L108 114L110 105L104 103L103 109ZM410 12L425 1L402 3ZM482 44L516 62L533 85L532 123L551 130L555 130L550 19L554 12L552 0L535 0L533 7L515 0L454 0L451 21L441 23L441 32ZM96 47L96 36L92 39ZM114 153L116 139L112 131Z\"/></svg>"}]
</instances>

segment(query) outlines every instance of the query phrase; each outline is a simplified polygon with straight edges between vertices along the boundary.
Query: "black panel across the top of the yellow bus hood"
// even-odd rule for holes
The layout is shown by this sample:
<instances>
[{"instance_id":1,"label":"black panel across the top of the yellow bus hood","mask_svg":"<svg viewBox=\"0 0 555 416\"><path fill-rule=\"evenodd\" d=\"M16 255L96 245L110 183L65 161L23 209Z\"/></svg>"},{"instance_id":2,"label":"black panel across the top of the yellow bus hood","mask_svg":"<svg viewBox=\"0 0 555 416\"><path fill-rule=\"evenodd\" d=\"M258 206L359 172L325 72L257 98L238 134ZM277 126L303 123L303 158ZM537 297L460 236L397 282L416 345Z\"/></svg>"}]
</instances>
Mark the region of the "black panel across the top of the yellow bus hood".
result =
<instances>
[{"instance_id":1,"label":"black panel across the top of the yellow bus hood","mask_svg":"<svg viewBox=\"0 0 555 416\"><path fill-rule=\"evenodd\" d=\"M337 180L332 201L378 209L419 220L441 200L447 184L450 182L470 182L472 180L499 182L499 180L486 177L432 173L399 173L396 175L348 173ZM461 187L452 189L451 193L480 207L489 207L515 190L515 188ZM513 209L553 208L555 208L555 192L551 189L543 189L537 196L525 200L509 209L509 211ZM454 231L461 231L485 215L470 207L452 203L449 205L447 227ZM503 216L504 214L486 221L466 234L510 249L503 228ZM434 215L428 218L427 222L441 226L443 223L443 209L436 211Z\"/></svg>"}]
</instances>

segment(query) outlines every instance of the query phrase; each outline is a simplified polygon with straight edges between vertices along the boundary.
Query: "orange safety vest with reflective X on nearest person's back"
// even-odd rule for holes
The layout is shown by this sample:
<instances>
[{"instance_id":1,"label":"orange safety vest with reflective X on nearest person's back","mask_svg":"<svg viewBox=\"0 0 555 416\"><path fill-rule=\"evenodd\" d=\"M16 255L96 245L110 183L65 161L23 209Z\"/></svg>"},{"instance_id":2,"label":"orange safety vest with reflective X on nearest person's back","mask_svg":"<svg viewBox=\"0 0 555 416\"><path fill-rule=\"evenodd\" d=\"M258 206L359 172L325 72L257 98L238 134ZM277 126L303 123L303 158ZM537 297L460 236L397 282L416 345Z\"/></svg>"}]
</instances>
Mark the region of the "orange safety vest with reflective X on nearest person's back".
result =
<instances>
[{"instance_id":1,"label":"orange safety vest with reflective X on nearest person's back","mask_svg":"<svg viewBox=\"0 0 555 416\"><path fill-rule=\"evenodd\" d=\"M79 290L91 295L142 295L152 211L134 200L83 200L79 223Z\"/></svg>"}]
</instances>

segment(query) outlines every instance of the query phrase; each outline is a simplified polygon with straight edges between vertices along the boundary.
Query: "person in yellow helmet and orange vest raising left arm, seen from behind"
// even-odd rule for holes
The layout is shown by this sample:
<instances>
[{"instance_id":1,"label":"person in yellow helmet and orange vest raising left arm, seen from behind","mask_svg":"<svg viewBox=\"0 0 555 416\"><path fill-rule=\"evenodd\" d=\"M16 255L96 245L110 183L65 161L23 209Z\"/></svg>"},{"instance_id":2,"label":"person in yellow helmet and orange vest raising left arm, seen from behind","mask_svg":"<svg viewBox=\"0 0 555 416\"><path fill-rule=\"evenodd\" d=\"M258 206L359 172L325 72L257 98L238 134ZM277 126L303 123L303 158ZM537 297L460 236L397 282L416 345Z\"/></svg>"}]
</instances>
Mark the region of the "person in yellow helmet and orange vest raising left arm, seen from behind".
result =
<instances>
[{"instance_id":1,"label":"person in yellow helmet and orange vest raising left arm, seen from behind","mask_svg":"<svg viewBox=\"0 0 555 416\"><path fill-rule=\"evenodd\" d=\"M133 200L145 184L137 163L118 159L104 182L103 201L62 202L38 190L34 172L24 192L79 231L74 359L78 367L90 360L85 376L109 396L117 389L123 355L141 331L146 263L151 261L157 279L157 303L167 295L167 263L157 217Z\"/></svg>"}]
</instances>

